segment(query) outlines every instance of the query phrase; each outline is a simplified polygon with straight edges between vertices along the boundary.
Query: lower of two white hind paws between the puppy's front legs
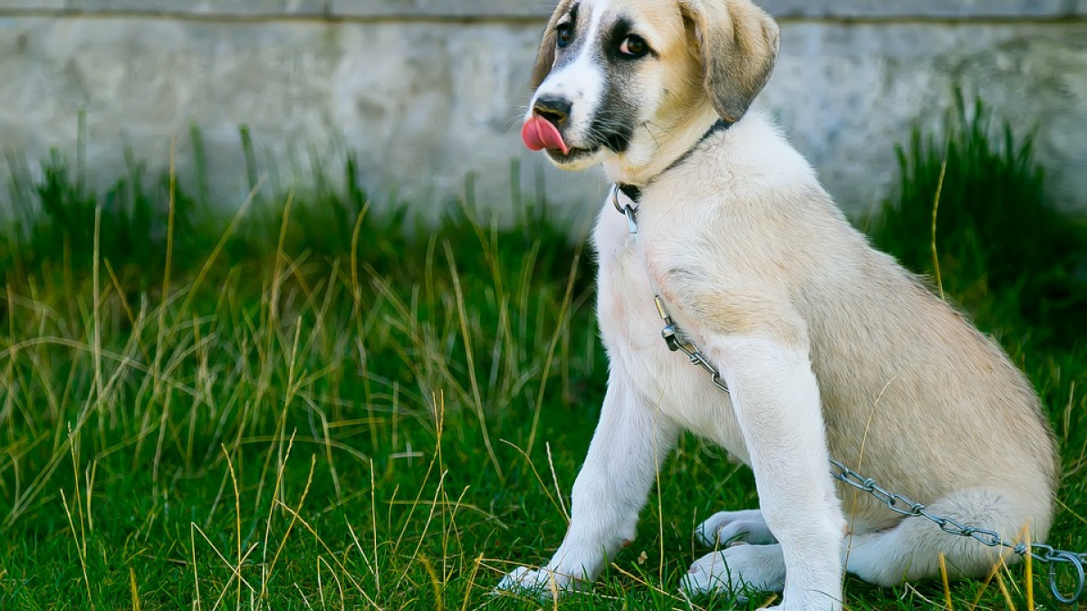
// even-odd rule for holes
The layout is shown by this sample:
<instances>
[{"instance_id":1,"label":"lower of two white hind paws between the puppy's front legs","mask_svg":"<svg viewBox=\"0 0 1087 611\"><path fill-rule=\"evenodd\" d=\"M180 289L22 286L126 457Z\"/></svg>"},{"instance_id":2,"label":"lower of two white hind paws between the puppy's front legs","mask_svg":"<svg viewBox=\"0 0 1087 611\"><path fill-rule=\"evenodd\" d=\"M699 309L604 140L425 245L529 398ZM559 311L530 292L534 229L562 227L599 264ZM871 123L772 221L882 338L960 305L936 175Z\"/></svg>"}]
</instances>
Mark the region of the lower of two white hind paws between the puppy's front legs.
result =
<instances>
[{"instance_id":1,"label":"lower of two white hind paws between the puppy's front legs","mask_svg":"<svg viewBox=\"0 0 1087 611\"><path fill-rule=\"evenodd\" d=\"M723 590L744 597L745 589L782 591L785 559L780 546L738 545L695 561L683 578L690 595Z\"/></svg>"}]
</instances>

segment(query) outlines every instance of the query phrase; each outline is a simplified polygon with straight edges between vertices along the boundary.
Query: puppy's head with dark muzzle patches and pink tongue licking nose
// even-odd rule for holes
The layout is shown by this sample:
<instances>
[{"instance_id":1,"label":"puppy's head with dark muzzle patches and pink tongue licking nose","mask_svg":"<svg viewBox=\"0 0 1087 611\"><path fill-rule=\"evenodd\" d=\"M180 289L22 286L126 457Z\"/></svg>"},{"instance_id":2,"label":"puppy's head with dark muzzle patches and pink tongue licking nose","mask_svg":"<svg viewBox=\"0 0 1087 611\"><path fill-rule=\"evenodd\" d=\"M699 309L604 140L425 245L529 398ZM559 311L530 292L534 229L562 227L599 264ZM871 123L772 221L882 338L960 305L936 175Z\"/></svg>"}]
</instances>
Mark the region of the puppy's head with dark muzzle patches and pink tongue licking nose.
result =
<instances>
[{"instance_id":1,"label":"puppy's head with dark muzzle patches and pink tongue licking nose","mask_svg":"<svg viewBox=\"0 0 1087 611\"><path fill-rule=\"evenodd\" d=\"M777 49L777 25L750 0L561 0L522 137L567 170L648 162L700 111L738 121Z\"/></svg>"}]
</instances>

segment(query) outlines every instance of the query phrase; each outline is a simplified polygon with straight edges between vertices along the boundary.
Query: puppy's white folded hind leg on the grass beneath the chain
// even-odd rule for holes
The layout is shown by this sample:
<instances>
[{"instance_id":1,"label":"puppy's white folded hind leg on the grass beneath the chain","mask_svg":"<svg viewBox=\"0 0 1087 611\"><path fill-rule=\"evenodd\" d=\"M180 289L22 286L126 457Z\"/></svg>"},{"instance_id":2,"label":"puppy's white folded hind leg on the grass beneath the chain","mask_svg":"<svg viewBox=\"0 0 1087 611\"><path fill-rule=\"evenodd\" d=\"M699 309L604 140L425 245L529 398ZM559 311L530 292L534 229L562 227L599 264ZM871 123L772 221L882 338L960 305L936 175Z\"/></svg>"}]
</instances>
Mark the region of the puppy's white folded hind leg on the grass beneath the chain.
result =
<instances>
[{"instance_id":1,"label":"puppy's white folded hind leg on the grass beneath the chain","mask_svg":"<svg viewBox=\"0 0 1087 611\"><path fill-rule=\"evenodd\" d=\"M1051 520L1051 511L1044 504L1048 500L1029 498L1029 503L1023 503L997 489L972 488L945 496L926 510L964 526L995 531L1005 541L1021 541L1024 527L1029 528L1032 540L1045 540ZM872 584L892 586L939 577L941 552L952 578L984 578L1001 558L1009 563L1019 559L1007 548L945 533L922 516L905 518L886 531L847 536L842 554L848 572Z\"/></svg>"}]
</instances>

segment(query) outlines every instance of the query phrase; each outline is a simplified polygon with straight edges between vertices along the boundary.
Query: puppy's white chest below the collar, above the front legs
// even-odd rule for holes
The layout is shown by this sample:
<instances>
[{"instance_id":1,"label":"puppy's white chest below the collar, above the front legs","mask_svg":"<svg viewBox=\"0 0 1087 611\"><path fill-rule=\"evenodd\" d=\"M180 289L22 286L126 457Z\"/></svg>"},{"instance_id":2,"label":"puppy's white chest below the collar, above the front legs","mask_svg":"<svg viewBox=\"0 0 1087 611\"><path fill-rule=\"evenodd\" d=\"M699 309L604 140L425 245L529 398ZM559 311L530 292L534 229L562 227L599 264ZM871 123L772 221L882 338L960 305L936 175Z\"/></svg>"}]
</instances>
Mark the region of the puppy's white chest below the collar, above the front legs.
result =
<instances>
[{"instance_id":1,"label":"puppy's white chest below the collar, above the front legs","mask_svg":"<svg viewBox=\"0 0 1087 611\"><path fill-rule=\"evenodd\" d=\"M728 396L685 354L670 351L661 337L665 323L653 303L642 250L611 204L598 222L595 244L600 261L597 317L613 371L628 375L642 399L675 425L747 462Z\"/></svg>"}]
</instances>

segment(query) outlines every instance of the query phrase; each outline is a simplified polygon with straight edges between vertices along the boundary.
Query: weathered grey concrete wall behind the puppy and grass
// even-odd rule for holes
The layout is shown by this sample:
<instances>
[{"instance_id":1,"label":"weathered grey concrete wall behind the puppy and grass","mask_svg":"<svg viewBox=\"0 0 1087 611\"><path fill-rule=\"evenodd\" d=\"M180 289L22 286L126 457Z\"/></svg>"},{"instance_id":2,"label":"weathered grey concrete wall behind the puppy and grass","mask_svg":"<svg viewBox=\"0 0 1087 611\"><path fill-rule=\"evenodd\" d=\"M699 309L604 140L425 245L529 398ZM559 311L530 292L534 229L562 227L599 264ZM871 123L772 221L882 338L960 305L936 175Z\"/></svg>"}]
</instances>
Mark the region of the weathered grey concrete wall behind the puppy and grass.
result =
<instances>
[{"instance_id":1,"label":"weathered grey concrete wall behind the puppy and grass","mask_svg":"<svg viewBox=\"0 0 1087 611\"><path fill-rule=\"evenodd\" d=\"M775 112L844 208L871 207L894 145L939 124L952 83L1021 132L1037 128L1054 195L1087 205L1087 0L765 0L782 23ZM596 174L546 166L517 137L526 77L551 0L0 0L0 148L34 162L74 154L87 113L93 184L124 172L130 144L165 167L172 135L191 175L203 128L212 188L247 189L247 124L270 184L305 184L309 159L357 150L378 195L421 211L478 175L483 203L509 205L542 173L567 210L596 207ZM0 163L0 180L9 167ZM7 189L0 189L0 203ZM591 201L589 201L591 200Z\"/></svg>"}]
</instances>

